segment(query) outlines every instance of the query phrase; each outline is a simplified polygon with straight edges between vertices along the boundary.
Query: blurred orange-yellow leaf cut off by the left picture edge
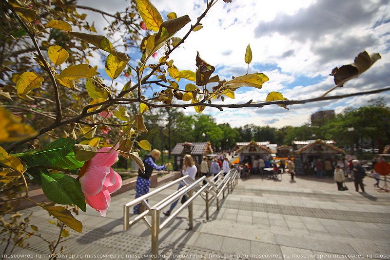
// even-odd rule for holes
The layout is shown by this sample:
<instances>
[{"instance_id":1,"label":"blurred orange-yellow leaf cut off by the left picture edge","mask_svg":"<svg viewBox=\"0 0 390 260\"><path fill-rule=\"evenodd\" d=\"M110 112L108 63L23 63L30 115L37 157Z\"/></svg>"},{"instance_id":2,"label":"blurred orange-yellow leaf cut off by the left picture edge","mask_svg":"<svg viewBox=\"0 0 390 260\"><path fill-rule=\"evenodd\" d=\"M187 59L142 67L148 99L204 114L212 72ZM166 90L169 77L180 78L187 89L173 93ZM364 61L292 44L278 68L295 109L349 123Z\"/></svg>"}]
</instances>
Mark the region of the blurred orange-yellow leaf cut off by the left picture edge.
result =
<instances>
[{"instance_id":1,"label":"blurred orange-yellow leaf cut off by the left picture edge","mask_svg":"<svg viewBox=\"0 0 390 260\"><path fill-rule=\"evenodd\" d=\"M20 117L0 108L0 142L13 142L37 135L29 125L21 124Z\"/></svg>"}]
</instances>

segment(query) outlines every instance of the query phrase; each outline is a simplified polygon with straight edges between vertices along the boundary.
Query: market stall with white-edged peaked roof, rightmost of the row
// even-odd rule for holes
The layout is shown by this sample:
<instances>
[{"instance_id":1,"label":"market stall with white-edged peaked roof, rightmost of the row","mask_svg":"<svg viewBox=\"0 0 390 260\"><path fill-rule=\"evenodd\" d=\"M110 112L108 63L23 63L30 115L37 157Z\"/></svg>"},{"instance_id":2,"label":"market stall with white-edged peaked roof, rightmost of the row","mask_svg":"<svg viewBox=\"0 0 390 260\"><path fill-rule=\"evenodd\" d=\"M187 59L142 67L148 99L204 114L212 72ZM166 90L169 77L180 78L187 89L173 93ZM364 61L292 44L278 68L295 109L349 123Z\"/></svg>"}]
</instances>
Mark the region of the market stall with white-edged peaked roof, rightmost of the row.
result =
<instances>
[{"instance_id":1,"label":"market stall with white-edged peaked roof, rightmost of the row","mask_svg":"<svg viewBox=\"0 0 390 260\"><path fill-rule=\"evenodd\" d=\"M293 141L295 147L294 163L295 172L297 174L307 174L308 167L313 160L321 159L325 161L327 158L333 159L338 156L344 156L346 152L333 145L333 140L307 140L307 141ZM305 170L306 168L306 170ZM310 166L309 166L310 169Z\"/></svg>"}]
</instances>

